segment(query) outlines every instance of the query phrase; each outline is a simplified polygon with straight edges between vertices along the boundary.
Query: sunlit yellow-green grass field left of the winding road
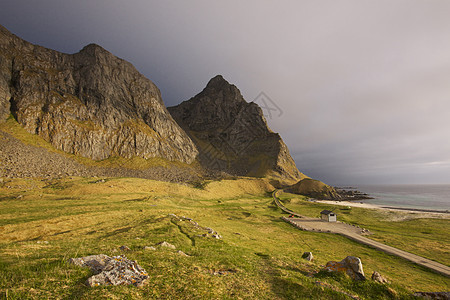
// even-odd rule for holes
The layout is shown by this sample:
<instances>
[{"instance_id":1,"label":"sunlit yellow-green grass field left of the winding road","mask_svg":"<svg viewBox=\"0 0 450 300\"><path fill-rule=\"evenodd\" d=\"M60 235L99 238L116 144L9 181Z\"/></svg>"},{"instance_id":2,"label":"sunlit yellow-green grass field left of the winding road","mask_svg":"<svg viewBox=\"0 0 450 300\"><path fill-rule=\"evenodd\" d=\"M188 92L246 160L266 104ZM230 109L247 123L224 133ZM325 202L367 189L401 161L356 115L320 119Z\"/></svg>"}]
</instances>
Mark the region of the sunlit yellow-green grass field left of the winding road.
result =
<instances>
[{"instance_id":1,"label":"sunlit yellow-green grass field left of the winding road","mask_svg":"<svg viewBox=\"0 0 450 300\"><path fill-rule=\"evenodd\" d=\"M409 299L414 291L449 289L448 278L405 260L283 222L270 195L273 187L262 179L211 181L201 188L131 178L96 181L0 184L0 298ZM321 209L302 207L310 214ZM201 231L169 213L193 218L223 238L200 237ZM435 233L424 236L432 240ZM190 256L143 250L161 241ZM121 245L132 251L122 253ZM315 261L301 259L304 251L312 251ZM148 284L88 288L90 271L67 260L100 253L136 260L149 273ZM366 275L377 270L391 283L319 272L327 261L347 255L361 258ZM229 272L213 275L218 270Z\"/></svg>"}]
</instances>

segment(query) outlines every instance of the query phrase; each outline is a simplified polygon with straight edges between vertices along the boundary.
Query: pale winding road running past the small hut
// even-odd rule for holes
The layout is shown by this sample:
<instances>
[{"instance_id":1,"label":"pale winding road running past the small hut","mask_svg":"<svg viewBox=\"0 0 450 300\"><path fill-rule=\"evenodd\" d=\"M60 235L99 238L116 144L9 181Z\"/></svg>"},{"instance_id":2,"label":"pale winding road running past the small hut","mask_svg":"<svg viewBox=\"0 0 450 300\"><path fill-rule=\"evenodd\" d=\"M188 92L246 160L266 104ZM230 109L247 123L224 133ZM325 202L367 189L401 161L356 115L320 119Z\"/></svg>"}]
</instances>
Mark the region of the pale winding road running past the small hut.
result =
<instances>
[{"instance_id":1,"label":"pale winding road running past the small hut","mask_svg":"<svg viewBox=\"0 0 450 300\"><path fill-rule=\"evenodd\" d=\"M450 267L440 264L438 262L435 262L433 260L430 260L430 259L418 256L418 255L385 245L383 243L371 240L364 236L364 235L370 234L370 232L368 232L362 228L359 228L357 226L352 226L349 224L345 224L342 222L325 222L318 218L309 218L309 217L305 217L305 216L302 216L300 214L290 211L289 209L284 207L281 204L280 200L278 199L277 194L279 191L280 190L276 190L272 194L272 196L275 200L275 203L284 212L287 212L288 214L298 217L298 218L283 217L284 221L294 225L295 227L302 229L302 230L306 230L306 231L328 232L328 233L340 234L340 235L348 237L356 242L359 242L361 244L371 246L375 249L384 251L384 252L392 254L392 255L397 255L397 256L407 259L413 263L424 266L435 272L438 272L447 277L450 277Z\"/></svg>"}]
</instances>

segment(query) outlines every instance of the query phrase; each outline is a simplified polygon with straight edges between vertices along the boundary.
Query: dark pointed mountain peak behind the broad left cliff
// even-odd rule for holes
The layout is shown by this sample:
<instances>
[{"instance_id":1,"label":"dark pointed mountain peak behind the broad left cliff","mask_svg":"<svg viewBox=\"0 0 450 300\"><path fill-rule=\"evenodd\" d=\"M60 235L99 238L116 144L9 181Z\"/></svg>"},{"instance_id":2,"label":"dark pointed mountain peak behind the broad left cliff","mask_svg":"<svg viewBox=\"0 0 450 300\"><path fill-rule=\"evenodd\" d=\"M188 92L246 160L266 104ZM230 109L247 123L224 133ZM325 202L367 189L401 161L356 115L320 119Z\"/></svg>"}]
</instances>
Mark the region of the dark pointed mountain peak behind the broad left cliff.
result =
<instances>
[{"instance_id":1,"label":"dark pointed mountain peak behind the broad left cliff","mask_svg":"<svg viewBox=\"0 0 450 300\"><path fill-rule=\"evenodd\" d=\"M206 168L296 181L305 177L279 134L267 126L261 108L246 102L220 75L201 93L168 110L197 145Z\"/></svg>"}]
</instances>

